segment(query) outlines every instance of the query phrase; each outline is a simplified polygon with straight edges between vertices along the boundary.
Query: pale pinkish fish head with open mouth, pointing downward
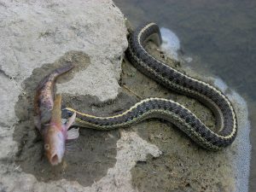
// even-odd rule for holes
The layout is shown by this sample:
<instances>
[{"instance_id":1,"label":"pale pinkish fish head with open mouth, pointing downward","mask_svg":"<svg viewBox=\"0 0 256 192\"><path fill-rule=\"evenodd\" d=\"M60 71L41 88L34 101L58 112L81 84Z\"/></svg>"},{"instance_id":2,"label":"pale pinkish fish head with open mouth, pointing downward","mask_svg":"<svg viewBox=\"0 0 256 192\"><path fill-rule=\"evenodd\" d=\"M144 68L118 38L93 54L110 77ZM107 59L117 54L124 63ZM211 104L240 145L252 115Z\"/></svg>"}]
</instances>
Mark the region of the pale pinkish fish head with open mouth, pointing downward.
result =
<instances>
[{"instance_id":1,"label":"pale pinkish fish head with open mouth, pointing downward","mask_svg":"<svg viewBox=\"0 0 256 192\"><path fill-rule=\"evenodd\" d=\"M67 133L62 127L49 125L44 135L44 151L52 166L61 163L65 152Z\"/></svg>"}]
</instances>

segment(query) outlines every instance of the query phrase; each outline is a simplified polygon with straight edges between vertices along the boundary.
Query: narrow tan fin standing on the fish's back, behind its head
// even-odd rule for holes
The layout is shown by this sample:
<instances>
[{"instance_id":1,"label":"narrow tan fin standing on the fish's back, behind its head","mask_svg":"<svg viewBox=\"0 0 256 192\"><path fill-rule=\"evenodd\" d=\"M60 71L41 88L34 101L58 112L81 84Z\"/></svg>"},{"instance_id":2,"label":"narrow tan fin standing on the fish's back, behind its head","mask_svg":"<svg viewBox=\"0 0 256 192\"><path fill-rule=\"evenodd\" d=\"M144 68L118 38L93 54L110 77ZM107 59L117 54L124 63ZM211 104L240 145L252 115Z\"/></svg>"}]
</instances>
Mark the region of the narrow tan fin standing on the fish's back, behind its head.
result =
<instances>
[{"instance_id":1,"label":"narrow tan fin standing on the fish's back, behind its head","mask_svg":"<svg viewBox=\"0 0 256 192\"><path fill-rule=\"evenodd\" d=\"M50 122L61 126L61 94L55 96Z\"/></svg>"}]
</instances>

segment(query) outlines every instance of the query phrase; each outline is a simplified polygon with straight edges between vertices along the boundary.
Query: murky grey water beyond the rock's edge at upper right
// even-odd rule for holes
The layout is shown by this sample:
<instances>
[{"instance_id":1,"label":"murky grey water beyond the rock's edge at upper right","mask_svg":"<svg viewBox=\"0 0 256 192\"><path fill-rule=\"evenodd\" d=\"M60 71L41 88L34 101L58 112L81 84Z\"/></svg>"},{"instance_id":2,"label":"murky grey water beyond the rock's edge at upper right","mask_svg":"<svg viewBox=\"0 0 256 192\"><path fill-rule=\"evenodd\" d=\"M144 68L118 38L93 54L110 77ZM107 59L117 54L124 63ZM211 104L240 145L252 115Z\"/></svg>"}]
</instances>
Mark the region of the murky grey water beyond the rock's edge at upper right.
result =
<instances>
[{"instance_id":1,"label":"murky grey water beyond the rock's edge at upper right","mask_svg":"<svg viewBox=\"0 0 256 192\"><path fill-rule=\"evenodd\" d=\"M183 54L193 59L193 68L217 75L246 99L253 146L249 191L256 191L256 1L114 2L134 26L149 20L172 29Z\"/></svg>"}]
</instances>

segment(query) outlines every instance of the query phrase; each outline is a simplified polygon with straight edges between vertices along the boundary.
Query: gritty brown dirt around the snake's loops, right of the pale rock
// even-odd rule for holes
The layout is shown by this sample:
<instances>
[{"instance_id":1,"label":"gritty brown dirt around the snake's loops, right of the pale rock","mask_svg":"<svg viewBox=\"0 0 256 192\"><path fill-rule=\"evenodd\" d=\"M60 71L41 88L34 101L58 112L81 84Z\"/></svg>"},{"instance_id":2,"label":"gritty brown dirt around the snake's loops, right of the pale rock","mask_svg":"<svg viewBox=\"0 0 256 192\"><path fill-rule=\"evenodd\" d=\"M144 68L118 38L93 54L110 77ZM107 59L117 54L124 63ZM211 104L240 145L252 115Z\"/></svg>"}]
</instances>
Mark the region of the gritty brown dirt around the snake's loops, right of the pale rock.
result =
<instances>
[{"instance_id":1,"label":"gritty brown dirt around the snake's loops, right of the pale rock","mask_svg":"<svg viewBox=\"0 0 256 192\"><path fill-rule=\"evenodd\" d=\"M183 62L173 61L160 53L154 44L148 52L183 73ZM189 108L201 121L214 130L215 119L211 111L200 102L180 96L152 79L146 78L128 61L123 63L122 82L138 96L164 97ZM196 77L197 78L197 77ZM155 144L163 152L158 158L148 156L132 169L132 183L139 191L234 191L235 179L230 164L230 148L218 152L198 147L182 131L169 122L157 119L133 126L139 136Z\"/></svg>"}]
</instances>

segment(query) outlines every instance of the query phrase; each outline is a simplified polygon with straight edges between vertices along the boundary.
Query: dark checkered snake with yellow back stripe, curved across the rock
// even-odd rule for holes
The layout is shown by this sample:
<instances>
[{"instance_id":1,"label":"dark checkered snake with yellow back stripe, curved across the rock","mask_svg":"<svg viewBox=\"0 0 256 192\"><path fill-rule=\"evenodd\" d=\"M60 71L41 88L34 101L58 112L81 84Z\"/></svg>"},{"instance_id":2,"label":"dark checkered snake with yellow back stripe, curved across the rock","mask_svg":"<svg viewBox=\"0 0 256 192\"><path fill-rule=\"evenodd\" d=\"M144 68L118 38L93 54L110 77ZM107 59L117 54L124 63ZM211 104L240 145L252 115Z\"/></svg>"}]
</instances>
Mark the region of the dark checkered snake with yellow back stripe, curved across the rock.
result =
<instances>
[{"instance_id":1,"label":"dark checkered snake with yellow back stripe, curved across the rock","mask_svg":"<svg viewBox=\"0 0 256 192\"><path fill-rule=\"evenodd\" d=\"M143 119L166 119L187 134L195 143L208 150L218 150L232 143L236 138L236 113L227 96L198 79L189 77L149 55L145 44L148 40L161 43L160 29L155 23L138 27L129 37L125 55L137 69L170 90L193 97L212 110L217 119L217 130L212 131L188 108L163 98L148 98L137 102L130 109L109 117L97 117L80 113L73 108L67 111L77 113L76 123L98 130L111 130L136 124Z\"/></svg>"}]
</instances>

